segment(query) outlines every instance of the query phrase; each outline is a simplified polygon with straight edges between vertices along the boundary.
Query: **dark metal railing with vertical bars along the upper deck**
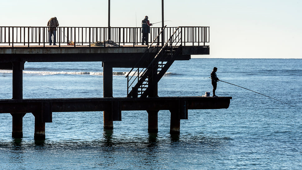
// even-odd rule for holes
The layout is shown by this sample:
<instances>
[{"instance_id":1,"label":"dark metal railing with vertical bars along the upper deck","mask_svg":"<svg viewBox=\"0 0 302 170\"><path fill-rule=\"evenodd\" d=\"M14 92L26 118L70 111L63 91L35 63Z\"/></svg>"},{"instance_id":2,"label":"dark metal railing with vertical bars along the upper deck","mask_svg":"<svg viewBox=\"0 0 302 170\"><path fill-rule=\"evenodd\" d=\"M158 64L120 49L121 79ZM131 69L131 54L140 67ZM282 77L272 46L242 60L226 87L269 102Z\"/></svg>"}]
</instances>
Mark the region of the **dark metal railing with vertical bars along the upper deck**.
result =
<instances>
[{"instance_id":1,"label":"dark metal railing with vertical bars along the upper deck","mask_svg":"<svg viewBox=\"0 0 302 170\"><path fill-rule=\"evenodd\" d=\"M1 46L33 46L48 45L49 27L0 27L0 47ZM103 42L106 47L108 40L108 27L56 27L56 44L76 46L91 46L95 42ZM171 37L178 27L166 27L161 36L163 41ZM118 46L140 45L141 27L110 27L111 40ZM205 46L210 42L209 27L179 27L182 32L183 46ZM151 27L149 42L155 40L156 43L161 38L156 38L161 32L161 27Z\"/></svg>"}]
</instances>

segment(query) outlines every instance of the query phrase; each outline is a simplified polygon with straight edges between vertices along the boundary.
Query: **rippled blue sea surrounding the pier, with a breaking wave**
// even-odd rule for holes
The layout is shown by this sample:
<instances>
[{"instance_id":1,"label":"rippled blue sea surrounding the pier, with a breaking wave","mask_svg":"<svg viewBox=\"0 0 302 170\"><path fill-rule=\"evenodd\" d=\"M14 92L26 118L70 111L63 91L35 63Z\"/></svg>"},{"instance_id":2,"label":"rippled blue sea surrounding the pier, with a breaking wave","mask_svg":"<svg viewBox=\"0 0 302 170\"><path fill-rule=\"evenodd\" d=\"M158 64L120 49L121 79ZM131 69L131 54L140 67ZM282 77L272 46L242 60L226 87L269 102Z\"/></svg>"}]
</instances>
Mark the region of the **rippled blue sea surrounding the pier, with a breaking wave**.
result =
<instances>
[{"instance_id":1,"label":"rippled blue sea surrounding the pier, with a breaking wave","mask_svg":"<svg viewBox=\"0 0 302 170\"><path fill-rule=\"evenodd\" d=\"M158 133L148 133L146 111L122 111L111 131L103 129L103 112L53 113L45 141L34 140L32 113L23 118L22 139L11 137L12 116L1 114L0 169L302 169L302 59L175 61L158 96L212 96L213 67L224 81L216 95L232 97L229 108L189 110L176 136L166 110L158 112ZM114 97L127 96L129 70L113 69ZM0 84L1 98L12 98L10 70L0 70ZM25 63L23 98L98 97L101 62Z\"/></svg>"}]
</instances>

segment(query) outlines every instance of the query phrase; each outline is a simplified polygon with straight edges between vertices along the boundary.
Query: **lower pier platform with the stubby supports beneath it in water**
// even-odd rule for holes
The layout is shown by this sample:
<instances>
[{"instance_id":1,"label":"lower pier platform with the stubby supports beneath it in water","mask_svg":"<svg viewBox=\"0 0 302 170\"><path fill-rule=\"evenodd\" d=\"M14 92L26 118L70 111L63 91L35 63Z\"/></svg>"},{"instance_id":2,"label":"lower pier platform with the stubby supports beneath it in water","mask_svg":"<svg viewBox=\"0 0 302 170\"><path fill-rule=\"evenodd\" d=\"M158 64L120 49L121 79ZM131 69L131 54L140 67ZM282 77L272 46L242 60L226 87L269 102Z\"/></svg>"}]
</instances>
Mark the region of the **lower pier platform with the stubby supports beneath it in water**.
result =
<instances>
[{"instance_id":1,"label":"lower pier platform with the stubby supports beneath it in water","mask_svg":"<svg viewBox=\"0 0 302 170\"><path fill-rule=\"evenodd\" d=\"M158 111L169 110L170 133L179 133L180 120L188 119L188 110L226 109L230 99L232 97L0 99L0 113L10 113L13 118L32 113L35 116L35 140L45 140L45 123L52 122L53 112L104 111L104 128L112 129L113 121L122 120L121 111L146 110L149 114L148 131L157 132ZM22 120L13 126L19 129L22 138Z\"/></svg>"}]
</instances>

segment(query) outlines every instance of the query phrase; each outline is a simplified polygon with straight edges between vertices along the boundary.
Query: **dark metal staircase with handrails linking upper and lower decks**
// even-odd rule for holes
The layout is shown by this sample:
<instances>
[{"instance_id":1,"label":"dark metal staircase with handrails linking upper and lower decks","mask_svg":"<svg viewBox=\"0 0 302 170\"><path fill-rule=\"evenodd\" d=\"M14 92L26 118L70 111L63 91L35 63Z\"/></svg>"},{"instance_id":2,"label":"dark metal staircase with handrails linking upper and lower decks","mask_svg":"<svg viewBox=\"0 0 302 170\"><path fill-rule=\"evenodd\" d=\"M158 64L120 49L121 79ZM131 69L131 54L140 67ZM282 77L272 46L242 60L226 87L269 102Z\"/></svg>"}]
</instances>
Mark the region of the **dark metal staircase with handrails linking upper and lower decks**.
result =
<instances>
[{"instance_id":1,"label":"dark metal staircase with handrails linking upper and lower decks","mask_svg":"<svg viewBox=\"0 0 302 170\"><path fill-rule=\"evenodd\" d=\"M164 27L165 28L165 27ZM159 40L160 34L163 33L164 28L155 38ZM145 98L149 95L149 91L151 88L151 83L158 83L159 80L164 76L164 74L168 71L168 68L173 64L176 57L181 53L182 45L181 45L181 31L179 27L173 32L172 36L169 40L163 45L163 47L159 46L159 41L157 41L157 45L152 46L155 40L148 47L146 52L140 58L139 62L130 70L127 74L126 78L128 80L127 83L127 97L129 98ZM159 49L159 50L158 50ZM153 52L153 50L158 50ZM154 56L155 53L155 56ZM153 54L153 56L152 56ZM149 65L146 68L137 68L136 66L142 65L141 63L151 58ZM135 71L133 71L135 70ZM132 76L130 76L132 74ZM134 83L136 84L134 85ZM130 90L130 88L132 88ZM130 92L129 92L130 90Z\"/></svg>"}]
</instances>

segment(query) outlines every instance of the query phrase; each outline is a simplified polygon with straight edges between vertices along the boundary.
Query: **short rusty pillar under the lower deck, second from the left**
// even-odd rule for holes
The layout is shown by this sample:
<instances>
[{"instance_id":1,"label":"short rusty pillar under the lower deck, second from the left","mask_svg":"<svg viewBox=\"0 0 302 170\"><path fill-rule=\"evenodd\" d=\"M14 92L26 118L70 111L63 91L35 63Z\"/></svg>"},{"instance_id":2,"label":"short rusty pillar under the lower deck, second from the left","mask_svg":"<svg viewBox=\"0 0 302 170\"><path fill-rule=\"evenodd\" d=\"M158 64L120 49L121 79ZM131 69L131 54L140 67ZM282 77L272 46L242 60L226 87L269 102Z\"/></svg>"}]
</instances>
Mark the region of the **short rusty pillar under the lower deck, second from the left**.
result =
<instances>
[{"instance_id":1,"label":"short rusty pillar under the lower deck, second from the left","mask_svg":"<svg viewBox=\"0 0 302 170\"><path fill-rule=\"evenodd\" d=\"M35 116L35 134L34 139L37 141L45 140L45 122L41 113L32 113Z\"/></svg>"}]
</instances>

